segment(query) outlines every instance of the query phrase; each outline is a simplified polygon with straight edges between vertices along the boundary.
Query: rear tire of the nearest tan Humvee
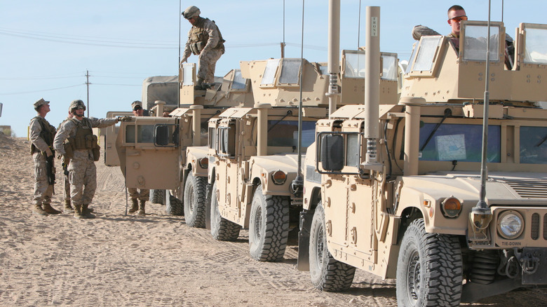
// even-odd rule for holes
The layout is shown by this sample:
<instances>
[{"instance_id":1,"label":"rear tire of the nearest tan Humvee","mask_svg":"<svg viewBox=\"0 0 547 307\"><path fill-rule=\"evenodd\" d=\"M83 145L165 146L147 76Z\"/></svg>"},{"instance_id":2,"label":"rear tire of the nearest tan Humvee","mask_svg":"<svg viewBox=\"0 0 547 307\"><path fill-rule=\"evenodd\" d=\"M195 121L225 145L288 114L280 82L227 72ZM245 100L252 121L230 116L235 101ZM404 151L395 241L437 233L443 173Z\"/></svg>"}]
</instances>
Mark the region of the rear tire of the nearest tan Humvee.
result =
<instances>
[{"instance_id":1,"label":"rear tire of the nearest tan Humvee","mask_svg":"<svg viewBox=\"0 0 547 307\"><path fill-rule=\"evenodd\" d=\"M319 203L313 213L309 237L309 273L317 289L328 292L347 290L353 282L355 267L336 260L327 248L325 210Z\"/></svg>"}]
</instances>

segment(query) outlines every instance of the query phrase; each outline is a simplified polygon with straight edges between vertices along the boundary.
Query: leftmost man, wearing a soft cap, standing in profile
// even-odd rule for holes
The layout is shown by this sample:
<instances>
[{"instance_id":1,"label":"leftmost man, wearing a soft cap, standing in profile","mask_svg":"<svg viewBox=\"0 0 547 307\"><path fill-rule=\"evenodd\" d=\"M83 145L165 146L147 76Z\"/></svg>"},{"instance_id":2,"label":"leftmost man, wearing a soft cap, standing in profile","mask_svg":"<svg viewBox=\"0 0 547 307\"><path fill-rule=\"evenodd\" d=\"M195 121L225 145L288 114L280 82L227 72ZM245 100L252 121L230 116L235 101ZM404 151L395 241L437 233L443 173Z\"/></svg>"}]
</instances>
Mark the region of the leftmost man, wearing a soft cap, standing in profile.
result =
<instances>
[{"instance_id":1,"label":"leftmost man, wearing a soft cap, standing in profile","mask_svg":"<svg viewBox=\"0 0 547 307\"><path fill-rule=\"evenodd\" d=\"M46 121L50 111L49 102L40 98L34 102L37 116L30 121L30 153L34 161L34 208L33 212L40 215L59 214L59 210L51 207L53 184L55 184L55 168L53 167L53 137L55 127Z\"/></svg>"}]
</instances>

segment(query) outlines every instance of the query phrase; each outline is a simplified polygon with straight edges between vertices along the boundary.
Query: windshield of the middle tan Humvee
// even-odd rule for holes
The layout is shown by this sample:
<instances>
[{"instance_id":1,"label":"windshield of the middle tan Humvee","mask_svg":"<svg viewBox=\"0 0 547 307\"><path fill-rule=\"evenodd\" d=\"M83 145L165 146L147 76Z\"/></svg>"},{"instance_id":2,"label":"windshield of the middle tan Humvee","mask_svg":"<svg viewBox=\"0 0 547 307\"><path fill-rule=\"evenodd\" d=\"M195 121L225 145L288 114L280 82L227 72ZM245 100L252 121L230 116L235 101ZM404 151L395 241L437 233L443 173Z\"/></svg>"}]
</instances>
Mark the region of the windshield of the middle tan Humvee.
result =
<instances>
[{"instance_id":1,"label":"windshield of the middle tan Humvee","mask_svg":"<svg viewBox=\"0 0 547 307\"><path fill-rule=\"evenodd\" d=\"M303 121L302 146L309 146L315 137L316 122ZM298 146L298 121L268 121L268 146Z\"/></svg>"}]
</instances>

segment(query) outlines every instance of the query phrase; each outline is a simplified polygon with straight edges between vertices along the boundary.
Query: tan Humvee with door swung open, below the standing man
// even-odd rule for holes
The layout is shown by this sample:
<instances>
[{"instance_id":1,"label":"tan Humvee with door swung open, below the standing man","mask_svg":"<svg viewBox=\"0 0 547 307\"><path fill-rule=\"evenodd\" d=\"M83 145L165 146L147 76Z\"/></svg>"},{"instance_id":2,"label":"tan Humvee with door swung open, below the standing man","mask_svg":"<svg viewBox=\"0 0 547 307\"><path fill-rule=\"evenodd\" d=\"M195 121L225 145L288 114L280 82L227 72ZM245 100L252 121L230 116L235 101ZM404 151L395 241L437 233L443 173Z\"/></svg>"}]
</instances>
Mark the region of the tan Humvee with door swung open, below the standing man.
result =
<instances>
[{"instance_id":1,"label":"tan Humvee with door swung open, below the standing man","mask_svg":"<svg viewBox=\"0 0 547 307\"><path fill-rule=\"evenodd\" d=\"M208 120L218 116L222 109L252 105L253 102L250 83L241 77L240 69L232 69L221 82L207 90L194 90L195 80L196 64L182 64L180 107L170 111L170 117L161 117L164 108L172 104L157 103L151 107L156 116L134 117L132 121L121 123L113 145L107 146L107 157L119 156L126 185L152 189L152 198L156 191L160 192L161 203L166 205L169 214L184 213L187 178L189 182L199 184L199 179L194 178L207 177L207 151L200 151L199 146L206 149ZM192 153L187 153L189 146L195 148ZM189 191L189 198L198 193L194 189ZM191 203L193 201L187 202ZM191 223L194 215L200 214L194 211L191 205L187 208L187 222ZM200 223L199 220L195 222ZM202 227L204 223L203 219Z\"/></svg>"}]
</instances>

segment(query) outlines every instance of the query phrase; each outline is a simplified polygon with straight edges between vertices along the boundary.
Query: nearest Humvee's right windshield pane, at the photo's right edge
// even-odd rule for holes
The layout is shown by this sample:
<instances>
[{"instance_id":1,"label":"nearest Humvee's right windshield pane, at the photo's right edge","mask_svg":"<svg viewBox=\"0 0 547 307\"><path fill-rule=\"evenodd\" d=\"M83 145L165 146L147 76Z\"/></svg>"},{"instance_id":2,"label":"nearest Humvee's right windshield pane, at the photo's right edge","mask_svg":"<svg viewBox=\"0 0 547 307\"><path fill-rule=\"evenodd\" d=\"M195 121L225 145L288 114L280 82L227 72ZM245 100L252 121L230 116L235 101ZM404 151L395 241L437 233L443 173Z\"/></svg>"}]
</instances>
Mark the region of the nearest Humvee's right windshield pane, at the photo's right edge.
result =
<instances>
[{"instance_id":1,"label":"nearest Humvee's right windshield pane, at the photo's right edge","mask_svg":"<svg viewBox=\"0 0 547 307\"><path fill-rule=\"evenodd\" d=\"M520 127L520 163L547 164L547 127Z\"/></svg>"}]
</instances>

